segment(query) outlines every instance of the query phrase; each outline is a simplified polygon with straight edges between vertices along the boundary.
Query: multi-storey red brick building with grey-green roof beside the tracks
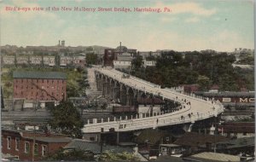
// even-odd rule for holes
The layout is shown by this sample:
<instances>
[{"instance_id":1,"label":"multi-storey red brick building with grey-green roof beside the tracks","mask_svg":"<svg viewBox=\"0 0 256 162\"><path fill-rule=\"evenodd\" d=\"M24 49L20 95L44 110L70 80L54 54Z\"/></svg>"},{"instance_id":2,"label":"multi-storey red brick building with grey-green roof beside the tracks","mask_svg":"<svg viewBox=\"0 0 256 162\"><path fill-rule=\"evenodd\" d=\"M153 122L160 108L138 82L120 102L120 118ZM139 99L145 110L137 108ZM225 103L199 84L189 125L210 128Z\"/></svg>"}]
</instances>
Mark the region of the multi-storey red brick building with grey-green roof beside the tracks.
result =
<instances>
[{"instance_id":1,"label":"multi-storey red brick building with grey-green roof beside the tracks","mask_svg":"<svg viewBox=\"0 0 256 162\"><path fill-rule=\"evenodd\" d=\"M64 72L14 72L14 98L38 101L66 99Z\"/></svg>"}]
</instances>

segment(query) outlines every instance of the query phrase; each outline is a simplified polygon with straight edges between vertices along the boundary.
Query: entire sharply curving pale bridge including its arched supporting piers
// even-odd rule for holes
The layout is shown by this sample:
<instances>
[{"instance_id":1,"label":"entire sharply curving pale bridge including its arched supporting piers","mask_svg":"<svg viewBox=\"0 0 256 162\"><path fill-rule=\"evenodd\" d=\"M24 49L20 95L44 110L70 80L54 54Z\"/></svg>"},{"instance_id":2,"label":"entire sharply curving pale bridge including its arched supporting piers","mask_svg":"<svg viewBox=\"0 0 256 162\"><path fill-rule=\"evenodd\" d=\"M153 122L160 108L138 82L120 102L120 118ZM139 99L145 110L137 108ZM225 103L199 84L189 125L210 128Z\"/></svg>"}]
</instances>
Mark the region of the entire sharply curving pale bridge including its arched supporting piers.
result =
<instances>
[{"instance_id":1,"label":"entire sharply curving pale bridge including its arched supporting piers","mask_svg":"<svg viewBox=\"0 0 256 162\"><path fill-rule=\"evenodd\" d=\"M84 133L108 132L114 130L125 132L142 130L174 124L187 124L189 130L195 121L217 117L224 112L219 101L212 101L194 94L185 95L177 88L161 89L160 85L149 83L119 72L112 68L95 68L96 88L102 95L122 105L133 106L142 97L158 97L166 102L166 109L158 113L140 113L137 115L108 119L92 119L84 124ZM177 107L170 107L175 103Z\"/></svg>"}]
</instances>

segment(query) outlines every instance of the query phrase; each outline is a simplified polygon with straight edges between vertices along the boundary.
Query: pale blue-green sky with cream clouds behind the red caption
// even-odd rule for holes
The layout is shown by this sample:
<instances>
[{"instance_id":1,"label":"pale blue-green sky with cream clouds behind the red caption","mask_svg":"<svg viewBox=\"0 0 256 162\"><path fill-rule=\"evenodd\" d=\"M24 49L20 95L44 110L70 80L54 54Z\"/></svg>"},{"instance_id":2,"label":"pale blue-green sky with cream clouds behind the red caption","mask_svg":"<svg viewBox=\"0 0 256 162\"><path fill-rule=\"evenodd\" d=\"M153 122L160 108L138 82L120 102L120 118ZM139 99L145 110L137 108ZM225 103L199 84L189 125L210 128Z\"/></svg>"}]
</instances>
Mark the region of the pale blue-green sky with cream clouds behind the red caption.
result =
<instances>
[{"instance_id":1,"label":"pale blue-green sky with cream clouds behind the red caption","mask_svg":"<svg viewBox=\"0 0 256 162\"><path fill-rule=\"evenodd\" d=\"M62 11L61 7L129 8L131 12ZM134 8L161 12L134 12ZM140 51L254 49L253 0L0 0L0 9L1 45L51 46L65 40L67 46L111 48L122 42Z\"/></svg>"}]
</instances>

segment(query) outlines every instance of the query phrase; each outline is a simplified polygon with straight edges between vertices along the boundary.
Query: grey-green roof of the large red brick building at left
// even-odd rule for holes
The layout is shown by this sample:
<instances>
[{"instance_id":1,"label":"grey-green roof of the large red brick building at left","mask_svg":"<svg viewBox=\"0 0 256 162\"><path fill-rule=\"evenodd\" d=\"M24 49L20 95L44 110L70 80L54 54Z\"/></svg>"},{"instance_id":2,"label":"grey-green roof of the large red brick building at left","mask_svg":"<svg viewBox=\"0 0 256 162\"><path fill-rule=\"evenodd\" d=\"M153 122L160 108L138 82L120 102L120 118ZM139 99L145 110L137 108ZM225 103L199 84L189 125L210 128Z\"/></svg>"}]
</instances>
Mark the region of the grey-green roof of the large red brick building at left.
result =
<instances>
[{"instance_id":1,"label":"grey-green roof of the large red brick building at left","mask_svg":"<svg viewBox=\"0 0 256 162\"><path fill-rule=\"evenodd\" d=\"M55 79L67 79L65 72L14 72L14 78L55 78Z\"/></svg>"}]
</instances>

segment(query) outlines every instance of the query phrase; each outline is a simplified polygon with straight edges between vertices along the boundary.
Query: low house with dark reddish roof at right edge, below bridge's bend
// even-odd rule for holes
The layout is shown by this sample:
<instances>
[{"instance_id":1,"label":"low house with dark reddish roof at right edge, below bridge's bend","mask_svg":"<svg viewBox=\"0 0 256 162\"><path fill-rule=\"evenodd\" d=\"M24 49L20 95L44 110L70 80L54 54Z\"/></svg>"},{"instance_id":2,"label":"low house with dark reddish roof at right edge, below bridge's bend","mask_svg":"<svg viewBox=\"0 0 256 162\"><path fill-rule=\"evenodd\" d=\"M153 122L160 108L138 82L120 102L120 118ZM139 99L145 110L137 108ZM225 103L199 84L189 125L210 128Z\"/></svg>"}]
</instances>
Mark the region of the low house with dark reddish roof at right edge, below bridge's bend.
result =
<instances>
[{"instance_id":1,"label":"low house with dark reddish roof at right edge, below bridge's bend","mask_svg":"<svg viewBox=\"0 0 256 162\"><path fill-rule=\"evenodd\" d=\"M255 136L254 122L229 122L218 125L218 132L228 137L252 137Z\"/></svg>"}]
</instances>

